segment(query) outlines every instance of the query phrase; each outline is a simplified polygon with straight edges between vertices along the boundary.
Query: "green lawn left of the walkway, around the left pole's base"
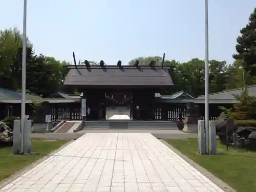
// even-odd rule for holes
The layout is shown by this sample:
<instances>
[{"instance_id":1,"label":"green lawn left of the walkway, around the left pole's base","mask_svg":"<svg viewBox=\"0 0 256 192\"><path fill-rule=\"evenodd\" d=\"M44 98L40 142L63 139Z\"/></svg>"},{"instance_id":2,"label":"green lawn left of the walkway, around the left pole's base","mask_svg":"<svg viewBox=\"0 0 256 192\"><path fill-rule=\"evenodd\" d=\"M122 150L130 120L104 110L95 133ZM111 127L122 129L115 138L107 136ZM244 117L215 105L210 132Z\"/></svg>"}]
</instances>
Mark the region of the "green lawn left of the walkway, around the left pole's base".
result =
<instances>
[{"instance_id":1,"label":"green lawn left of the walkway, around the left pole's base","mask_svg":"<svg viewBox=\"0 0 256 192\"><path fill-rule=\"evenodd\" d=\"M18 170L46 156L68 141L32 141L33 155L13 155L12 147L0 146L0 182L10 177Z\"/></svg>"}]
</instances>

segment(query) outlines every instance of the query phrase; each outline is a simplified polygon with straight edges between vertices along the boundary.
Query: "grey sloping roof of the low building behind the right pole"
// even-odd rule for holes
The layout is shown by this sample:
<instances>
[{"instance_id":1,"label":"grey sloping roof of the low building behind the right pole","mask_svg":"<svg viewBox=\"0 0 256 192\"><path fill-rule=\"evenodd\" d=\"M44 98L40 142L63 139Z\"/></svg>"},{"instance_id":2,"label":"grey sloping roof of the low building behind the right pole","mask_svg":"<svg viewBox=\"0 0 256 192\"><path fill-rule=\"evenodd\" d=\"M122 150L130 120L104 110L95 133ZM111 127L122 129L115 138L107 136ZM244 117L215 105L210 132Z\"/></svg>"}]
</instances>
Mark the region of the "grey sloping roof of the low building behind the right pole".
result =
<instances>
[{"instance_id":1,"label":"grey sloping roof of the low building behind the right pole","mask_svg":"<svg viewBox=\"0 0 256 192\"><path fill-rule=\"evenodd\" d=\"M250 96L256 97L256 85L248 86L247 90ZM240 88L240 89L226 90L218 93L211 93L209 94L209 99L234 99L233 94L238 95L238 94L241 94L242 91L243 89ZM200 95L197 98L204 99L204 95Z\"/></svg>"}]
</instances>

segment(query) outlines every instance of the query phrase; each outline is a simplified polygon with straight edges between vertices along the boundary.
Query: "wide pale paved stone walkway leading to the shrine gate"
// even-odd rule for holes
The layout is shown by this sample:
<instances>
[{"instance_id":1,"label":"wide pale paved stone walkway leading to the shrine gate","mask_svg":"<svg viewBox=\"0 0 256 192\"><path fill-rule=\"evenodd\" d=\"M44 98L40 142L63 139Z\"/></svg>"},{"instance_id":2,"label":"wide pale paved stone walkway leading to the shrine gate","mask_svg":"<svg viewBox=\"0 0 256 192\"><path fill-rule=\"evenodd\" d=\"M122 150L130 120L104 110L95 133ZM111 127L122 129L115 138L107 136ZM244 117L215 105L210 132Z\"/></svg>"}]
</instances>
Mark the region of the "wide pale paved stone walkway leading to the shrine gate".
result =
<instances>
[{"instance_id":1,"label":"wide pale paved stone walkway leading to the shrine gate","mask_svg":"<svg viewBox=\"0 0 256 192\"><path fill-rule=\"evenodd\" d=\"M0 191L223 190L149 133L89 133Z\"/></svg>"}]
</instances>

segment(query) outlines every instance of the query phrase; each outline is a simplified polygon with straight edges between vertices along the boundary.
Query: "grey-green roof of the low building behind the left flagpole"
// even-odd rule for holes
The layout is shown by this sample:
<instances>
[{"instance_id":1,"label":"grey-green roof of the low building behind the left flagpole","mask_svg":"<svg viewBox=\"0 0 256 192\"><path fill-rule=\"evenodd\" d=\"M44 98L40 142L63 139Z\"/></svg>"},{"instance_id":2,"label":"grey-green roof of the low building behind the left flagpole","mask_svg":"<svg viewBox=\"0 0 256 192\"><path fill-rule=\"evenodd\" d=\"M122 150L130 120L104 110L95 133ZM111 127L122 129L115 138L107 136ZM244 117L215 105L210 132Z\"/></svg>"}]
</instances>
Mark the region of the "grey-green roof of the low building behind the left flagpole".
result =
<instances>
[{"instance_id":1,"label":"grey-green roof of the low building behind the left flagpole","mask_svg":"<svg viewBox=\"0 0 256 192\"><path fill-rule=\"evenodd\" d=\"M0 99L22 99L22 93L0 88ZM27 93L26 99L40 100L41 97Z\"/></svg>"}]
</instances>

